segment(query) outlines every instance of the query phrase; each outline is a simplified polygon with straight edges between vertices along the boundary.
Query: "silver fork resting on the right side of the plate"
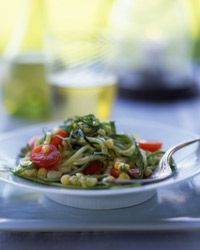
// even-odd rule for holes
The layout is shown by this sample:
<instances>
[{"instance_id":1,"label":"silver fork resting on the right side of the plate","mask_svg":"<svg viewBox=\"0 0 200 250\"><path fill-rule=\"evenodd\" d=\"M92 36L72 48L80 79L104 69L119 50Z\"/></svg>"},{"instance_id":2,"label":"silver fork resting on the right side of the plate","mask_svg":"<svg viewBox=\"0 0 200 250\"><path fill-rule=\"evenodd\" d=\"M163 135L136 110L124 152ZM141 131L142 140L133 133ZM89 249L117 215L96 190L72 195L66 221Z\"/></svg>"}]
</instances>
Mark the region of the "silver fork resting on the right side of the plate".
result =
<instances>
[{"instance_id":1,"label":"silver fork resting on the right side of the plate","mask_svg":"<svg viewBox=\"0 0 200 250\"><path fill-rule=\"evenodd\" d=\"M165 154L162 156L159 166L155 170L155 172L152 174L151 178L148 179L135 179L135 180L122 180L122 179L114 179L114 180L106 180L106 183L110 184L118 184L118 185L125 185L125 184L151 184L156 182L161 182L163 180L169 179L169 178L176 178L178 174L178 169L176 167L176 164L172 161L172 156L179 150L193 144L200 142L200 138L193 139L191 141L187 141L184 143L177 144L170 149L168 149ZM200 152L200 144L198 145L197 151ZM163 175L163 173L168 170L169 173ZM199 167L199 173L200 173L200 167ZM104 182L104 183L105 183Z\"/></svg>"}]
</instances>

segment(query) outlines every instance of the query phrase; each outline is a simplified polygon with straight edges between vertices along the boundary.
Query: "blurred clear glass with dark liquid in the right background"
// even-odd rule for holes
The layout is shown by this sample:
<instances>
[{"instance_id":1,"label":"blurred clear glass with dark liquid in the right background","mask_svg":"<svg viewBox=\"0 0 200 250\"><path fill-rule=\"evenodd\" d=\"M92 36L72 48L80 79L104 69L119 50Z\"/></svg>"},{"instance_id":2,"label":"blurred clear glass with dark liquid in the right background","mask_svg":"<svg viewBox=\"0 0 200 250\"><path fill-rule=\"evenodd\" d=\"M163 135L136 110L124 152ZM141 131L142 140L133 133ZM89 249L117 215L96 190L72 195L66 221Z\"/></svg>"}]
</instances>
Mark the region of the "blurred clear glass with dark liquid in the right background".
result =
<instances>
[{"instance_id":1,"label":"blurred clear glass with dark liquid in the right background","mask_svg":"<svg viewBox=\"0 0 200 250\"><path fill-rule=\"evenodd\" d=\"M197 10L198 1L116 2L111 32L118 44L113 58L120 94L159 101L196 96L186 3Z\"/></svg>"}]
</instances>

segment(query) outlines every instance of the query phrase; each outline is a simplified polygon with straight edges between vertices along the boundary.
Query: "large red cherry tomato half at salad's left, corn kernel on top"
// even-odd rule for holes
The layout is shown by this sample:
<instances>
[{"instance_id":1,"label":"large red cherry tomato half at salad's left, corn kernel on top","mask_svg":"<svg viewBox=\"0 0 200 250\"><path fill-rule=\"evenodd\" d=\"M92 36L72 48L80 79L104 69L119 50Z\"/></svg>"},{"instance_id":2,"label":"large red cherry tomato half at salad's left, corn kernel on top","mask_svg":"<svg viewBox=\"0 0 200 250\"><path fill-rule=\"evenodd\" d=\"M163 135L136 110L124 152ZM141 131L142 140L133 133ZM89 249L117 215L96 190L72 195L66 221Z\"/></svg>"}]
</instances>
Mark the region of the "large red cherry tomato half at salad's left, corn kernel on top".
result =
<instances>
[{"instance_id":1,"label":"large red cherry tomato half at salad's left, corn kernel on top","mask_svg":"<svg viewBox=\"0 0 200 250\"><path fill-rule=\"evenodd\" d=\"M54 145L42 144L31 150L30 158L37 167L51 169L56 167L61 154Z\"/></svg>"}]
</instances>

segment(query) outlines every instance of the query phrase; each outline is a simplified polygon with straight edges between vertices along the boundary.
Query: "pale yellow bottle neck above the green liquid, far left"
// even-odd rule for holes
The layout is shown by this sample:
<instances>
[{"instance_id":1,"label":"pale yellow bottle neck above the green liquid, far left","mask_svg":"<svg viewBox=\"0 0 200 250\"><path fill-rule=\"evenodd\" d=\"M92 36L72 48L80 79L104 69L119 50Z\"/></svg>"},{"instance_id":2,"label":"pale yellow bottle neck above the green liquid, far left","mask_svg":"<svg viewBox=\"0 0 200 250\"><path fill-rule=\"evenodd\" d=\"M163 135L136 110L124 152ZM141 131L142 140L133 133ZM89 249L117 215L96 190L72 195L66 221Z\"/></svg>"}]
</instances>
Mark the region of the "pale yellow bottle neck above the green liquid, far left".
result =
<instances>
[{"instance_id":1,"label":"pale yellow bottle neck above the green liquid, far left","mask_svg":"<svg viewBox=\"0 0 200 250\"><path fill-rule=\"evenodd\" d=\"M43 48L43 0L21 0L19 18L5 55L39 52Z\"/></svg>"}]
</instances>

